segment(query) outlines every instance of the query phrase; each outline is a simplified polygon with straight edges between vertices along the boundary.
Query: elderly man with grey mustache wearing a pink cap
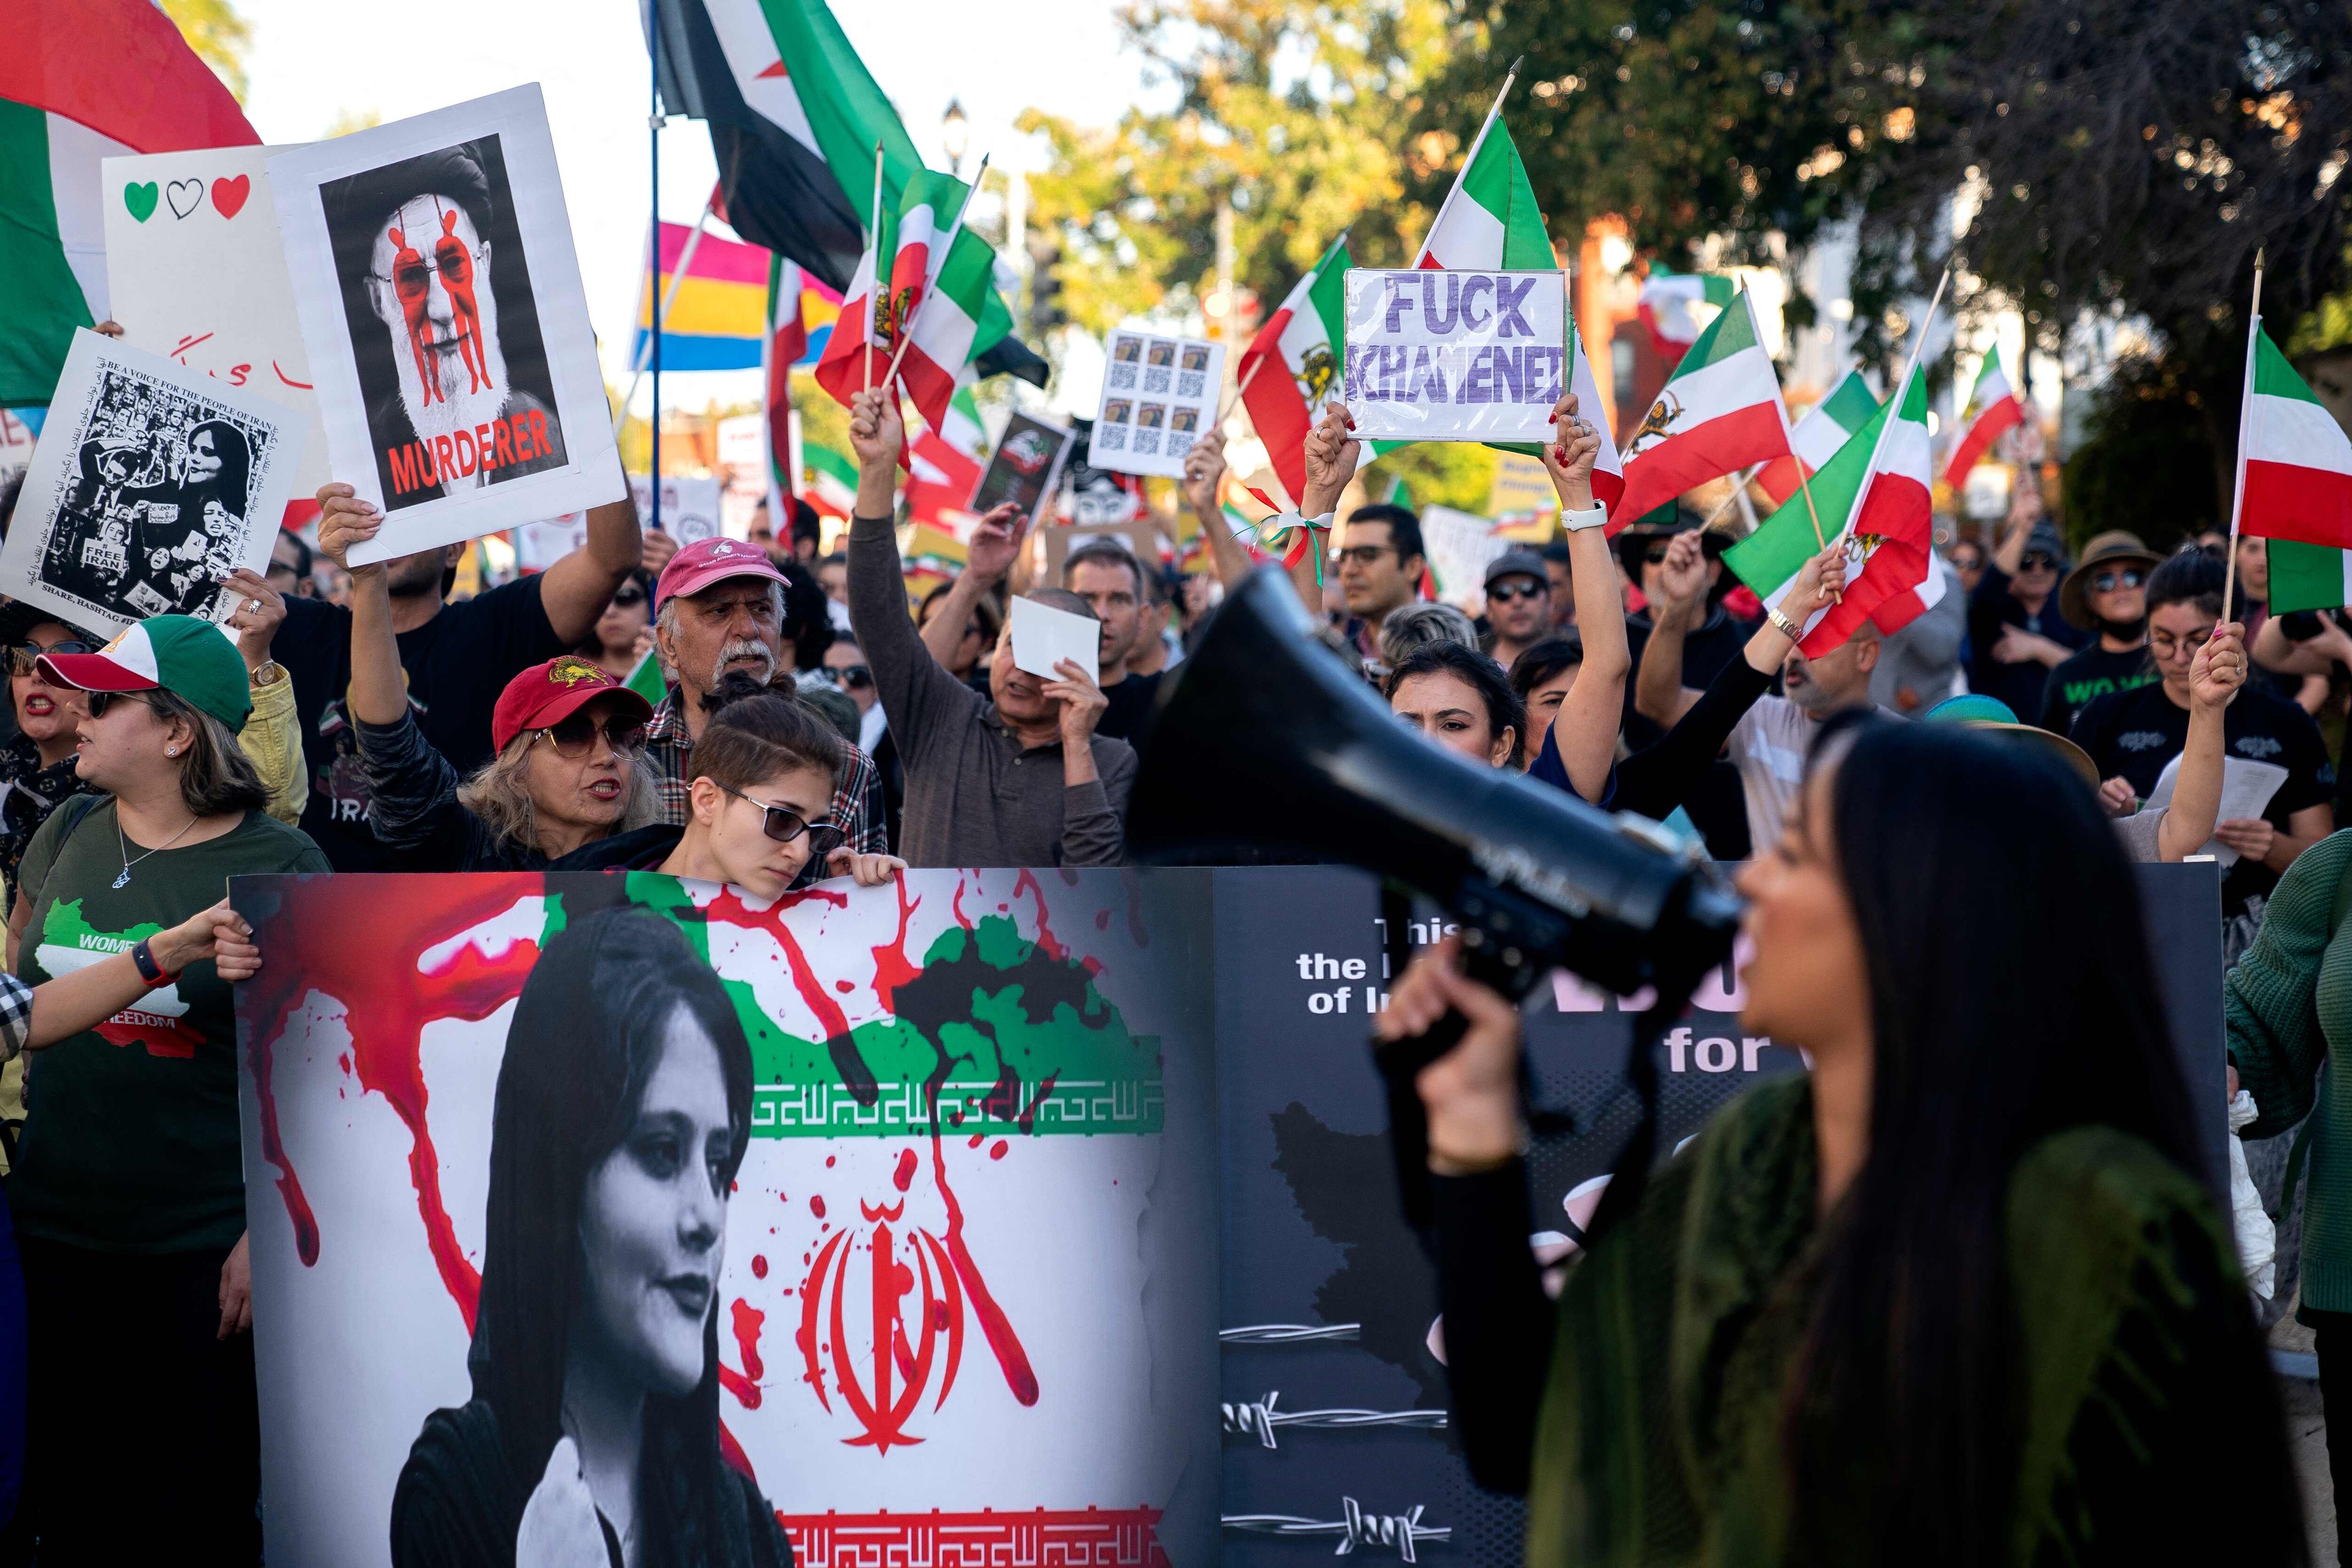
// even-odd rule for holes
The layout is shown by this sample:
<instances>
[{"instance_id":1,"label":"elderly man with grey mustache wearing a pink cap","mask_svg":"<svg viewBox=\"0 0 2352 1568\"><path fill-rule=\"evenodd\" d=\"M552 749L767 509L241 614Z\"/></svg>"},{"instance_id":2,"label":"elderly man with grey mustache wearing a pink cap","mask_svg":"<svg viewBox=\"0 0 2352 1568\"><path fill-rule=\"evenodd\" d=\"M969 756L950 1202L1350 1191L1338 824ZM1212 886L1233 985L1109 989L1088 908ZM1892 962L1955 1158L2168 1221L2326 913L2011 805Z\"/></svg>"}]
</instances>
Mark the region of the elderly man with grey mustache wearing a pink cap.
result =
<instances>
[{"instance_id":1,"label":"elderly man with grey mustache wearing a pink cap","mask_svg":"<svg viewBox=\"0 0 2352 1568\"><path fill-rule=\"evenodd\" d=\"M654 583L654 651L675 675L644 733L644 762L661 788L663 818L687 820L687 752L710 722L710 691L729 670L771 682L783 665L783 574L760 545L703 538L661 569ZM790 686L790 682L786 682ZM889 853L882 778L873 757L854 745L833 792L833 823L842 842L863 853Z\"/></svg>"}]
</instances>

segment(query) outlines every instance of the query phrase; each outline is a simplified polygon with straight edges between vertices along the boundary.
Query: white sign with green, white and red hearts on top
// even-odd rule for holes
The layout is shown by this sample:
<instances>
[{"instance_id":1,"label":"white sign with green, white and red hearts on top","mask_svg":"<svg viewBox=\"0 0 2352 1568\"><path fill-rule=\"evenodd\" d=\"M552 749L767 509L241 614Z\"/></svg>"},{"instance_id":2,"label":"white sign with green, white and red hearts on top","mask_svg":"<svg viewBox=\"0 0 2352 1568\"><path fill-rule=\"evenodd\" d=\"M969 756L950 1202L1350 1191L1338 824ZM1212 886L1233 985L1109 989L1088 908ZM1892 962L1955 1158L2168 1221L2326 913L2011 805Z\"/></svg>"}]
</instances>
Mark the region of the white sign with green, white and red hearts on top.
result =
<instances>
[{"instance_id":1,"label":"white sign with green, white and red hearts on top","mask_svg":"<svg viewBox=\"0 0 2352 1568\"><path fill-rule=\"evenodd\" d=\"M270 200L268 160L285 150L108 158L101 205L106 294L122 341L299 409L301 508L334 475Z\"/></svg>"}]
</instances>

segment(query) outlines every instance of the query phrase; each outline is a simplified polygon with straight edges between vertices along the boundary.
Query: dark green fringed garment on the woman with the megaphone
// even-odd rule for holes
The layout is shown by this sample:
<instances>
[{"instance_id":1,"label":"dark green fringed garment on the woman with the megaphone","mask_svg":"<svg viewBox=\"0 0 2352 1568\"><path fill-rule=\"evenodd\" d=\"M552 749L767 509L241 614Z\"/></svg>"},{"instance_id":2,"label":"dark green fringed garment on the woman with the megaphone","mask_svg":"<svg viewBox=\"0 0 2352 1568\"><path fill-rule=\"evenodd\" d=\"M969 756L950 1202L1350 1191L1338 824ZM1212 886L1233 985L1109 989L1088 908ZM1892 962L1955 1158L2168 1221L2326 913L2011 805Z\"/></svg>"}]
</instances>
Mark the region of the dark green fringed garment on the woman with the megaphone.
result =
<instances>
[{"instance_id":1,"label":"dark green fringed garment on the woman with the megaphone","mask_svg":"<svg viewBox=\"0 0 2352 1568\"><path fill-rule=\"evenodd\" d=\"M1531 1568L1790 1559L1778 1420L1811 1321L1813 1192L1811 1084L1764 1084L1576 1267L1536 1427ZM2016 1302L2013 1563L2157 1561L2230 1497L2265 1495L2232 1450L2277 1420L2267 1368L2192 1175L2114 1128L2058 1133L2011 1173L2006 1239L2002 1281L1950 1284ZM1870 1495L1872 1465L1853 1455L1844 1488Z\"/></svg>"}]
</instances>

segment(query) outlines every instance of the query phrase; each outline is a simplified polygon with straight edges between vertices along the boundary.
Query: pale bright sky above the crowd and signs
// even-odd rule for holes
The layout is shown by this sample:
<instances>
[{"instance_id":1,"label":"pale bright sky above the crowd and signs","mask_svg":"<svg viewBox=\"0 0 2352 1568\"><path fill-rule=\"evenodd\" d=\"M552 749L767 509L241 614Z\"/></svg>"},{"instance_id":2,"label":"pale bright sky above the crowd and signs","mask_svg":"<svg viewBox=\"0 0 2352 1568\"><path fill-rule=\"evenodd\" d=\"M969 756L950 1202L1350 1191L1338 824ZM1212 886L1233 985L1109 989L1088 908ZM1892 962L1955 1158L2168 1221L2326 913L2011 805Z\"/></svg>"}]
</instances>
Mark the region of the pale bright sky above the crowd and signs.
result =
<instances>
[{"instance_id":1,"label":"pale bright sky above the crowd and signs","mask_svg":"<svg viewBox=\"0 0 2352 1568\"><path fill-rule=\"evenodd\" d=\"M938 122L950 99L971 118L967 165L1035 162L1014 118L1037 106L1108 125L1143 92L1141 61L1120 49L1112 0L891 0L835 7L868 71L898 106L915 146L946 167ZM254 26L245 103L270 143L325 136L341 115L400 120L539 82L579 249L588 315L621 378L644 266L649 82L635 0L470 0L452 26L390 0L238 0ZM715 169L701 122L661 134L661 216L691 223ZM663 402L755 397L757 376L663 378ZM642 407L642 402L640 402Z\"/></svg>"}]
</instances>

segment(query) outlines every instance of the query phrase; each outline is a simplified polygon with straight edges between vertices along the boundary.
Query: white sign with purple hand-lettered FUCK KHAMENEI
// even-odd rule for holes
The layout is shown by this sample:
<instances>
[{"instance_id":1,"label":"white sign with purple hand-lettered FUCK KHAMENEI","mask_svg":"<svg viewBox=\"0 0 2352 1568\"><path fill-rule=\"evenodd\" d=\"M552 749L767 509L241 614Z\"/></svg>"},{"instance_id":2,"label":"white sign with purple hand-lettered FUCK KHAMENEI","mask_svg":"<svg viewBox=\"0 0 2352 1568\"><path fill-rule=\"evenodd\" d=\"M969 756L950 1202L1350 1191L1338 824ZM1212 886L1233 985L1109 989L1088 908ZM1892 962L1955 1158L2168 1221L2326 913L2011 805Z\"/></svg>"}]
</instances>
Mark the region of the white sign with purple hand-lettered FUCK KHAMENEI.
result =
<instances>
[{"instance_id":1,"label":"white sign with purple hand-lettered FUCK KHAMENEI","mask_svg":"<svg viewBox=\"0 0 2352 1568\"><path fill-rule=\"evenodd\" d=\"M1566 273L1348 273L1362 440L1548 442L1566 353Z\"/></svg>"}]
</instances>

